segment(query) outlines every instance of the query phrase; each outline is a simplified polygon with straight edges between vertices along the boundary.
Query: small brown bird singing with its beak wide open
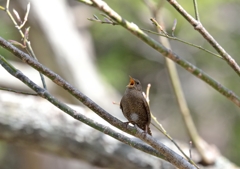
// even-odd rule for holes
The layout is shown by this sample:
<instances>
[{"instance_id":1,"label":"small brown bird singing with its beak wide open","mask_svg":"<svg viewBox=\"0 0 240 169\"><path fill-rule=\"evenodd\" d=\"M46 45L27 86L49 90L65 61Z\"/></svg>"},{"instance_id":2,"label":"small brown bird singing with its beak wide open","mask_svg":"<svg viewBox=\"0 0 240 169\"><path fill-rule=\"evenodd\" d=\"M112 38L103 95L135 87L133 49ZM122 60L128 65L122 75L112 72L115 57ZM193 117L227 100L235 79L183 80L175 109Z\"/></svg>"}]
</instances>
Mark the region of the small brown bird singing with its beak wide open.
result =
<instances>
[{"instance_id":1,"label":"small brown bird singing with its beak wide open","mask_svg":"<svg viewBox=\"0 0 240 169\"><path fill-rule=\"evenodd\" d=\"M142 85L139 80L130 76L130 82L120 102L123 115L128 119L127 123L137 125L144 132L152 135L150 130L151 113L148 103L142 93Z\"/></svg>"}]
</instances>

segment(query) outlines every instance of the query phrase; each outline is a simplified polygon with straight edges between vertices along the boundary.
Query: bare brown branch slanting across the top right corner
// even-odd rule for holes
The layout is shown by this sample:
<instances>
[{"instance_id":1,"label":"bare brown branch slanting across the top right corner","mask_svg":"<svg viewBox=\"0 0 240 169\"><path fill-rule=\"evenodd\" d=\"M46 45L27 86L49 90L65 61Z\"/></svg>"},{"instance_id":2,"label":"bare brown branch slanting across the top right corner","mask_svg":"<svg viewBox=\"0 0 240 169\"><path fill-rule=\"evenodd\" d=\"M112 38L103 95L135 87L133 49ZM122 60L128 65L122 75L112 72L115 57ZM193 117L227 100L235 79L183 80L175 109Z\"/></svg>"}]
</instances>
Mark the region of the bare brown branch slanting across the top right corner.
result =
<instances>
[{"instance_id":1,"label":"bare brown branch slanting across the top right corner","mask_svg":"<svg viewBox=\"0 0 240 169\"><path fill-rule=\"evenodd\" d=\"M196 29L202 36L212 45L212 47L226 60L233 70L240 76L240 67L236 61L218 44L218 42L210 35L210 33L202 26L202 24L194 19L178 4L176 0L168 0L168 2Z\"/></svg>"}]
</instances>

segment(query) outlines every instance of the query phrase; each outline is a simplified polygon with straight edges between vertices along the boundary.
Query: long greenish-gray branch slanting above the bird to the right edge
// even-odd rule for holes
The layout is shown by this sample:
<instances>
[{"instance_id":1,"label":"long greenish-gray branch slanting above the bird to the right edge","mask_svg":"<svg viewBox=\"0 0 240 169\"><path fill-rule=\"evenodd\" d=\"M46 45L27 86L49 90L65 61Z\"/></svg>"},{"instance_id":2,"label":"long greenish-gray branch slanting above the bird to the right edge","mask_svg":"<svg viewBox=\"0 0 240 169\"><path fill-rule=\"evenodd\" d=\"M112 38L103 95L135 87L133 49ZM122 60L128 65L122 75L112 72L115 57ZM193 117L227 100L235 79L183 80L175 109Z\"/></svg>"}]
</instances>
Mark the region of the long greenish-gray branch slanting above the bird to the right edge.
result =
<instances>
[{"instance_id":1,"label":"long greenish-gray branch slanting above the bird to the right edge","mask_svg":"<svg viewBox=\"0 0 240 169\"><path fill-rule=\"evenodd\" d=\"M79 0L82 2L81 0ZM179 64L181 67L198 77L199 79L203 80L210 86L212 86L215 90L217 90L222 95L226 96L229 100L231 100L233 103L235 103L238 107L240 107L240 98L233 93L231 90L227 89L217 81L215 81L213 78L211 78L208 74L203 72L201 69L197 68L196 66L192 65L185 59L178 56L173 51L167 49L162 44L157 42L156 40L149 37L146 33L144 33L141 29L138 28L138 26L134 23L130 23L127 20L123 19L118 13L116 13L114 10L112 10L105 2L102 0L92 0L93 5L96 6L99 10L106 13L109 17L111 17L114 21L119 23L121 26L129 30L132 34L139 37L141 40L143 40L145 43L147 43L149 46L157 50L159 53L161 53L163 56L173 60L175 63Z\"/></svg>"}]
</instances>

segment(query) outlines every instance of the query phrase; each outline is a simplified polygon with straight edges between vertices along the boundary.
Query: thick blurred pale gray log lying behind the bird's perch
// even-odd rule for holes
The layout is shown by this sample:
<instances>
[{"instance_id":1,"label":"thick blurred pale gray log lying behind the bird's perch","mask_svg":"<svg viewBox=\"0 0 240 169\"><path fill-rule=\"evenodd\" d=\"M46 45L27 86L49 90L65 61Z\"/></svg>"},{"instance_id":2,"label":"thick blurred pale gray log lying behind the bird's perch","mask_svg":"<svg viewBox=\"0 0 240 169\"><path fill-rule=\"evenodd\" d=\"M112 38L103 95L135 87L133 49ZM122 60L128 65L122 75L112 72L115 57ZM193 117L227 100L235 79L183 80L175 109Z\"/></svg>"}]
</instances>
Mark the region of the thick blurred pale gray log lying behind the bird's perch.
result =
<instances>
[{"instance_id":1,"label":"thick blurred pale gray log lying behind the bird's perch","mask_svg":"<svg viewBox=\"0 0 240 169\"><path fill-rule=\"evenodd\" d=\"M72 107L107 125L92 111L82 107ZM76 121L49 102L35 96L0 91L0 133L0 139L7 143L56 156L74 158L98 167L174 168L168 162L133 149ZM173 147L164 139L162 142L168 147ZM186 147L184 150L188 151L186 145L181 147ZM193 150L193 155L196 154ZM237 167L219 156L214 166L206 168Z\"/></svg>"}]
</instances>

